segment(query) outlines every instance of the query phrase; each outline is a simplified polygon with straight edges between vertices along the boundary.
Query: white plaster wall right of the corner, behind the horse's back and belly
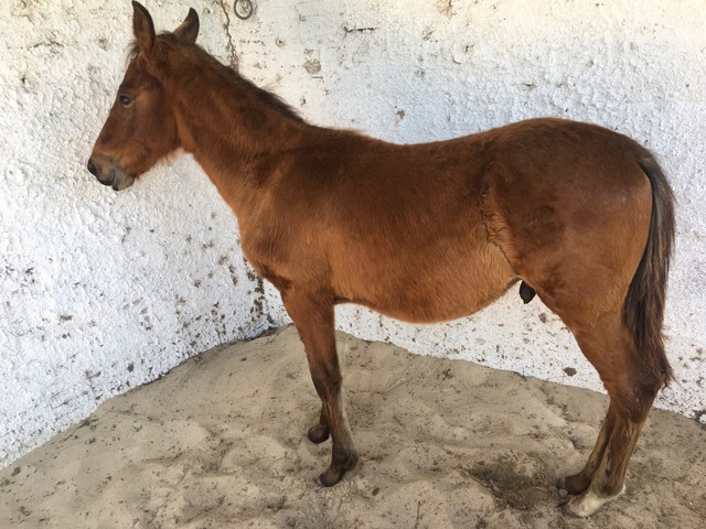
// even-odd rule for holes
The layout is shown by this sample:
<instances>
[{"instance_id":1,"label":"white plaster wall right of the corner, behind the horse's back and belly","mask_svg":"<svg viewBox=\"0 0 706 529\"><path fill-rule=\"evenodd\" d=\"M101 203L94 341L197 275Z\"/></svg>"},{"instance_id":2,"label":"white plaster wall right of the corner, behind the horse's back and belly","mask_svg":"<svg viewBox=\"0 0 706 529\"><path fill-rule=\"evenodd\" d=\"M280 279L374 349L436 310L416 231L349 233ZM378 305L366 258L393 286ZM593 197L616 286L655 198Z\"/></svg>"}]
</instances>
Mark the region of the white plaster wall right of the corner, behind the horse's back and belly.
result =
<instances>
[{"instance_id":1,"label":"white plaster wall right of the corner, behind the horse's back and belly","mask_svg":"<svg viewBox=\"0 0 706 529\"><path fill-rule=\"evenodd\" d=\"M592 121L652 149L678 199L657 402L706 423L704 0L260 1L229 24L240 69L310 120L395 142L536 116ZM274 289L272 317L287 322ZM413 352L602 390L561 322L516 288L481 313L414 326L352 306L338 326Z\"/></svg>"}]
</instances>

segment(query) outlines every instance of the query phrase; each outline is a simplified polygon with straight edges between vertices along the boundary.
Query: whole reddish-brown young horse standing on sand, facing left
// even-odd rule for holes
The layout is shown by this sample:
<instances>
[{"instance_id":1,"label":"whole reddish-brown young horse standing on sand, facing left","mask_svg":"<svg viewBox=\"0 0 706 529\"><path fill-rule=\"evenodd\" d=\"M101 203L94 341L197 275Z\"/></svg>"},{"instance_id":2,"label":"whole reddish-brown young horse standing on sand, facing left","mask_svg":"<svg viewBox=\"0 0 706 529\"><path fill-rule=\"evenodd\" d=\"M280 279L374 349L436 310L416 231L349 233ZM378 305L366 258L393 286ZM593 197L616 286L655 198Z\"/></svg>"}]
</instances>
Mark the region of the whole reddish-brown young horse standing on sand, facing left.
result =
<instances>
[{"instance_id":1,"label":"whole reddish-brown young horse standing on sand, facing left","mask_svg":"<svg viewBox=\"0 0 706 529\"><path fill-rule=\"evenodd\" d=\"M119 191L191 153L235 212L243 252L281 293L322 401L309 439L332 438L319 477L357 461L343 409L334 306L420 323L471 314L522 281L571 330L610 396L566 509L589 516L625 468L672 370L662 320L674 239L652 154L598 126L533 119L398 145L314 127L195 44L192 9L154 33L133 2L132 48L88 170Z\"/></svg>"}]
</instances>

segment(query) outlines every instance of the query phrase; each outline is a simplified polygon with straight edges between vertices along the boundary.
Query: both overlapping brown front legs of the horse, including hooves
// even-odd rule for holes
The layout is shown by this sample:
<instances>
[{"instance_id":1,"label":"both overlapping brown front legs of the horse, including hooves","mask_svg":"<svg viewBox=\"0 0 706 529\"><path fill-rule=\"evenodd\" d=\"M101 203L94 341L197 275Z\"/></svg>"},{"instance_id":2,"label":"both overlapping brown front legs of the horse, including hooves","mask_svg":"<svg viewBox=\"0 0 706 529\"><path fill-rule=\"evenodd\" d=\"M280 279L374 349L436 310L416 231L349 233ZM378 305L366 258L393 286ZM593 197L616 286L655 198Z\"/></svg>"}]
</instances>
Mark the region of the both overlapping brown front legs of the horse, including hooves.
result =
<instances>
[{"instance_id":1,"label":"both overlapping brown front legs of the horse, including hooves","mask_svg":"<svg viewBox=\"0 0 706 529\"><path fill-rule=\"evenodd\" d=\"M342 377L335 349L333 298L324 293L288 289L282 301L295 322L307 352L311 379L319 398L319 424L309 430L314 443L332 438L331 465L319 476L321 486L330 487L357 463L351 429L342 401Z\"/></svg>"}]
</instances>

